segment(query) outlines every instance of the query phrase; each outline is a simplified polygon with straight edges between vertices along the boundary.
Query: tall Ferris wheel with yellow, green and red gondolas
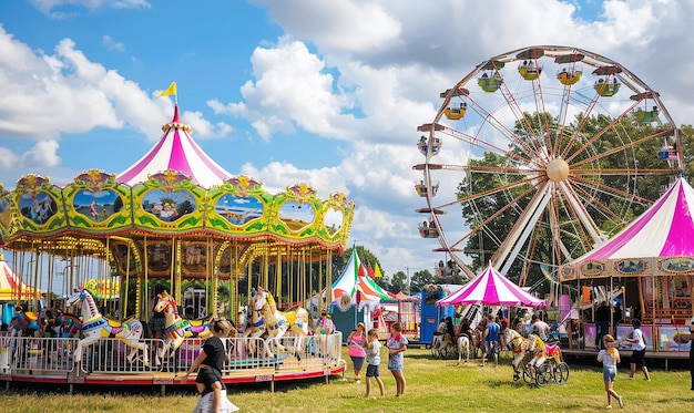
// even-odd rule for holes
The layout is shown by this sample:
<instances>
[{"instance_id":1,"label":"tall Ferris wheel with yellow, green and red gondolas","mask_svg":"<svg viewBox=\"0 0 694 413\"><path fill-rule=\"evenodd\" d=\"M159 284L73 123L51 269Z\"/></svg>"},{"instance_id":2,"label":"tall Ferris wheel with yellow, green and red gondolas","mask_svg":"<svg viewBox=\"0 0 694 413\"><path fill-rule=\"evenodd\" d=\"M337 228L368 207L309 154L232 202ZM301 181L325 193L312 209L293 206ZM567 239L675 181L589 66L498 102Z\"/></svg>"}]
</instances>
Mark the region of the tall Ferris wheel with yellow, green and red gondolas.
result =
<instances>
[{"instance_id":1,"label":"tall Ferris wheel with yellow, green and red gondolas","mask_svg":"<svg viewBox=\"0 0 694 413\"><path fill-rule=\"evenodd\" d=\"M569 47L493 56L440 94L418 127L423 238L468 275L552 269L641 214L680 172L660 94L620 63Z\"/></svg>"}]
</instances>

